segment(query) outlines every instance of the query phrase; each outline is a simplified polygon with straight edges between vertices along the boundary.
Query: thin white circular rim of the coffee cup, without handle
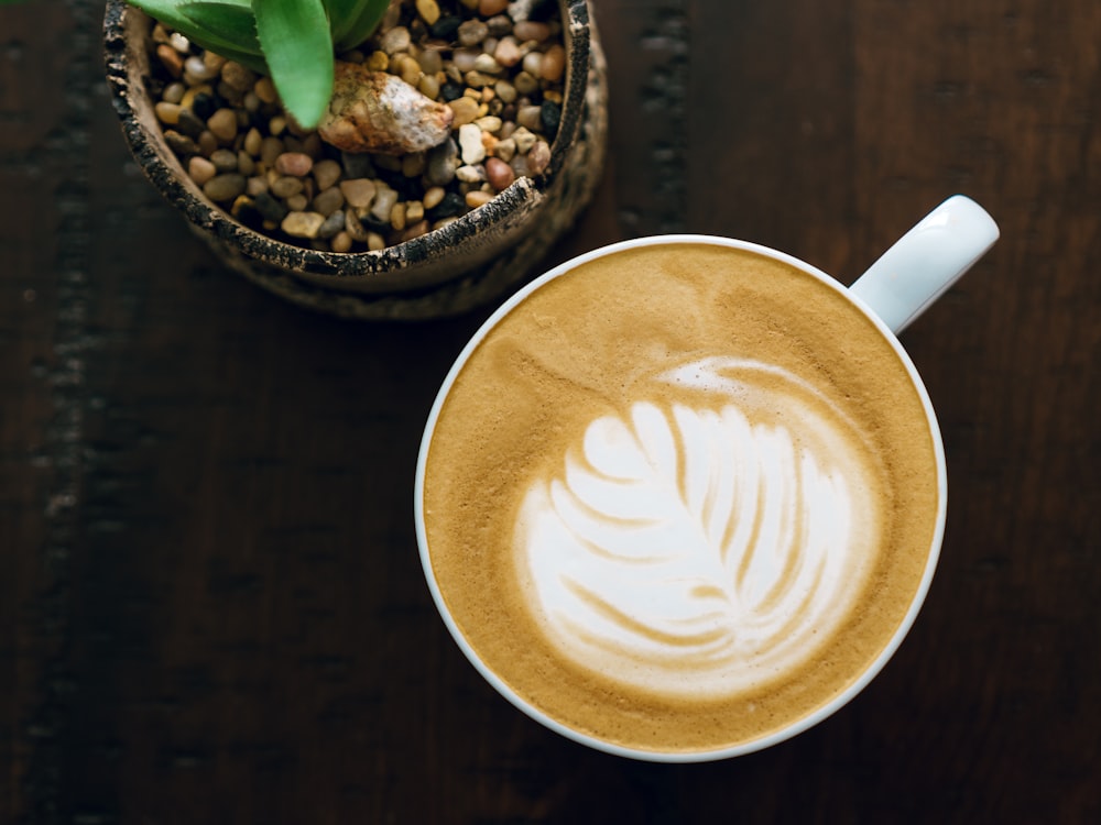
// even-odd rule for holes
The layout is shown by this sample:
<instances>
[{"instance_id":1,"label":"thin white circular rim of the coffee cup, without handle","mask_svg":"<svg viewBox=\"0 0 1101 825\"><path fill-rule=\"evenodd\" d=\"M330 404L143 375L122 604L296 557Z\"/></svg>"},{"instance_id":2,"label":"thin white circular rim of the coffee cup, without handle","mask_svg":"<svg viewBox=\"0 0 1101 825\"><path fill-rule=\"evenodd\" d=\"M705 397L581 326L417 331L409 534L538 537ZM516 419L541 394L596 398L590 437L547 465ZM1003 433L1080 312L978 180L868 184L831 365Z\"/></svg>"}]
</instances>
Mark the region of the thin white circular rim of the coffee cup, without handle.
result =
<instances>
[{"instance_id":1,"label":"thin white circular rim of the coffee cup, without handle","mask_svg":"<svg viewBox=\"0 0 1101 825\"><path fill-rule=\"evenodd\" d=\"M918 586L911 598L909 606L906 614L903 616L902 622L895 629L894 634L891 636L890 641L880 650L879 654L871 662L871 664L861 672L861 674L853 680L843 691L833 696L829 702L825 703L822 706L813 711L811 713L803 716L781 730L776 730L772 734L759 737L756 739L751 739L750 741L739 743L735 745L722 746L719 748L711 748L707 750L699 751L661 751L661 750L646 750L642 748L632 748L623 745L618 745L615 743L604 741L595 736L584 734L581 732L575 730L567 725L558 722L553 716L539 711L538 708L528 704L519 693L516 693L508 683L504 682L497 673L494 673L478 656L478 652L467 641L462 631L451 616L450 610L444 601L443 592L439 588L439 584L436 581L435 573L433 572L432 558L428 550L428 541L425 529L425 518L424 518L424 481L425 471L427 466L428 448L432 443L432 437L435 432L436 421L439 418L439 413L443 408L445 400L450 392L451 386L455 384L456 378L459 373L461 373L467 361L473 354L475 350L481 344L489 332L508 316L513 309L515 309L520 304L522 304L532 293L536 292L545 284L554 280L574 270L591 262L597 258L606 257L608 255L613 255L625 250L642 249L646 246L655 245L672 245L672 244L705 244L713 246L724 246L728 249L740 250L744 252L753 252L765 257L786 263L794 266L808 275L814 276L824 285L833 289L835 292L841 294L849 301L855 306L868 319L879 329L880 333L891 344L892 349L895 351L898 360L906 369L909 375L911 382L913 383L915 389L917 391L918 397L922 402L922 406L926 414L926 420L929 428L929 436L933 440L934 453L937 464L937 491L938 491L938 504L937 504L937 516L936 524L934 527L933 539L929 546L929 553L926 559L925 570L923 572L922 579L918 582ZM802 261L794 255L786 252L781 252L780 250L774 250L770 246L764 246L759 243L751 241L742 241L732 238L723 238L719 235L709 234L691 234L691 233L674 233L674 234L658 234L658 235L647 235L643 238L631 239L626 241L619 241L615 243L607 244L604 246L599 246L589 252L582 253L568 261L565 261L552 270L545 272L543 275L534 278L533 280L525 284L523 287L514 292L509 298L501 304L493 311L486 321L478 328L478 330L470 337L466 345L456 356L448 370L447 375L444 377L440 388L436 394L433 402L432 408L428 413L428 418L425 422L424 432L421 438L419 450L417 453L416 472L414 479L414 518L416 527L416 540L417 549L421 557L421 565L425 580L428 585L429 593L432 594L433 602L436 605L436 609L439 613L440 618L444 620L445 626L451 635L451 638L456 641L459 649L462 651L464 656L470 661L475 669L481 674L481 676L489 682L490 685L494 688L505 700L508 700L513 706L519 708L522 713L527 715L530 718L538 722L550 730L564 736L567 739L586 745L595 750L602 751L606 754L611 754L613 756L625 757L630 759L636 759L642 761L651 762L666 762L666 763L687 763L687 762L706 762L706 761L717 761L720 759L728 759L737 756L744 756L748 754L753 754L759 750L764 750L774 745L778 745L787 739L791 739L798 734L808 730L809 728L818 725L819 723L832 716L844 705L849 704L858 694L860 694L864 688L871 683L871 681L879 675L879 673L886 666L887 661L894 656L898 647L902 645L903 640L908 635L914 622L917 619L917 615L925 603L925 598L928 595L929 587L933 583L933 578L937 569L937 563L940 558L940 549L944 543L945 525L947 521L947 507L948 507L948 473L947 473L947 461L945 457L945 446L944 439L940 432L940 426L936 417L936 413L933 408L933 402L929 397L928 389L925 386L925 382L922 381L922 376L917 371L913 360L906 352L905 348L898 341L897 336L891 330L890 327L869 307L863 300L858 296L853 295L844 285L838 282L836 278L831 277L822 270Z\"/></svg>"}]
</instances>

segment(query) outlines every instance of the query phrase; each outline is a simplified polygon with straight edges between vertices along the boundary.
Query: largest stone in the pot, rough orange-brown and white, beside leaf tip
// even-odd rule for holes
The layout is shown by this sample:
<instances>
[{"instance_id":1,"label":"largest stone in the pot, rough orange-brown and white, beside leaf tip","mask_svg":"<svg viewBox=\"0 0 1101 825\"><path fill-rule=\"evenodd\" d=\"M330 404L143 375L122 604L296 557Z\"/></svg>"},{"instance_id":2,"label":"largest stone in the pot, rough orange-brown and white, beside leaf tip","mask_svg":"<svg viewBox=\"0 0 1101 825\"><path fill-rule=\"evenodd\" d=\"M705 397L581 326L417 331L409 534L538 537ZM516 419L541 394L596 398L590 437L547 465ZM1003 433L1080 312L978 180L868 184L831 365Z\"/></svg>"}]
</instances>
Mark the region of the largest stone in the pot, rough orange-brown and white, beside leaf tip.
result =
<instances>
[{"instance_id":1,"label":"largest stone in the pot, rough orange-brown and white, beside leaf tip","mask_svg":"<svg viewBox=\"0 0 1101 825\"><path fill-rule=\"evenodd\" d=\"M346 152L404 155L447 140L454 119L449 106L401 78L338 61L333 99L318 134Z\"/></svg>"}]
</instances>

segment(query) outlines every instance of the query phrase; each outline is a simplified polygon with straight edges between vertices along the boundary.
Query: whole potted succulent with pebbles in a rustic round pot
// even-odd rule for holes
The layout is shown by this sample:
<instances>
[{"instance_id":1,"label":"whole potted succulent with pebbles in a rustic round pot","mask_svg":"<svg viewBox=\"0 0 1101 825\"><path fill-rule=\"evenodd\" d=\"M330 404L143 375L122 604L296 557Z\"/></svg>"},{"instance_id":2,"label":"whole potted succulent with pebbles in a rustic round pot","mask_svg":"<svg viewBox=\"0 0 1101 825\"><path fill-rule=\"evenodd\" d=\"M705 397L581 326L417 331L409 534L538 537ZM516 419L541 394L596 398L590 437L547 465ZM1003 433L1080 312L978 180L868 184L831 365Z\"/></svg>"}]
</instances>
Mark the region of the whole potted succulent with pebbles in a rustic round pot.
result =
<instances>
[{"instance_id":1,"label":"whole potted succulent with pebbles in a rustic round pot","mask_svg":"<svg viewBox=\"0 0 1101 825\"><path fill-rule=\"evenodd\" d=\"M599 177L607 92L585 0L108 0L105 45L150 180L229 267L337 315L491 299ZM533 82L555 46L558 85ZM243 103L228 68L251 84Z\"/></svg>"}]
</instances>

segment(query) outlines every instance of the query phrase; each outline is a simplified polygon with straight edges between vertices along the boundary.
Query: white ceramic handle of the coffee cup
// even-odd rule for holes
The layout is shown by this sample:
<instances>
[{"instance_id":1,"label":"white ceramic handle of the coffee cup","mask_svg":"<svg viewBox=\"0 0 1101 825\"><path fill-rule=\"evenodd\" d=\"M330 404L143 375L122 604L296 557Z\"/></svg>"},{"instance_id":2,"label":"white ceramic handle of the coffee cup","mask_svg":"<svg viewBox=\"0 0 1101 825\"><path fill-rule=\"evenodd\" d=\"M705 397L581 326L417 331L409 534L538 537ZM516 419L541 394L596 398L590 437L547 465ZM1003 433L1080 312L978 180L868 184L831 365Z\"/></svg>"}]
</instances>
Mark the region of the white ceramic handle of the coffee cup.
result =
<instances>
[{"instance_id":1,"label":"white ceramic handle of the coffee cup","mask_svg":"<svg viewBox=\"0 0 1101 825\"><path fill-rule=\"evenodd\" d=\"M897 334L971 268L999 237L981 206L953 195L849 287Z\"/></svg>"}]
</instances>

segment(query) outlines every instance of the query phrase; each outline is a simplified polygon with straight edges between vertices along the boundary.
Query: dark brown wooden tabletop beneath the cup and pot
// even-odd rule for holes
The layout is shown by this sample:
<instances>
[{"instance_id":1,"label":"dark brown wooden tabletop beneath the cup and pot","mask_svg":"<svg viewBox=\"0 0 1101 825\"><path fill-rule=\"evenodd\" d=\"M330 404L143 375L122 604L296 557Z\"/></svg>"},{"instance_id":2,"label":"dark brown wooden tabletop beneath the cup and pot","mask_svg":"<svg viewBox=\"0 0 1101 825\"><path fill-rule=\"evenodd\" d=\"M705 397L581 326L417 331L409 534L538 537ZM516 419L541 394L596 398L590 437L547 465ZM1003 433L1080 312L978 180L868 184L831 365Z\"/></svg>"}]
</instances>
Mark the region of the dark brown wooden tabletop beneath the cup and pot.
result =
<instances>
[{"instance_id":1,"label":"dark brown wooden tabletop beneath the cup and pot","mask_svg":"<svg viewBox=\"0 0 1101 825\"><path fill-rule=\"evenodd\" d=\"M0 821L1101 821L1101 4L593 0L611 146L547 264L659 231L850 282L963 191L1002 240L904 334L948 449L925 610L857 701L661 767L499 698L411 516L488 312L316 316L137 173L94 0L0 8Z\"/></svg>"}]
</instances>

